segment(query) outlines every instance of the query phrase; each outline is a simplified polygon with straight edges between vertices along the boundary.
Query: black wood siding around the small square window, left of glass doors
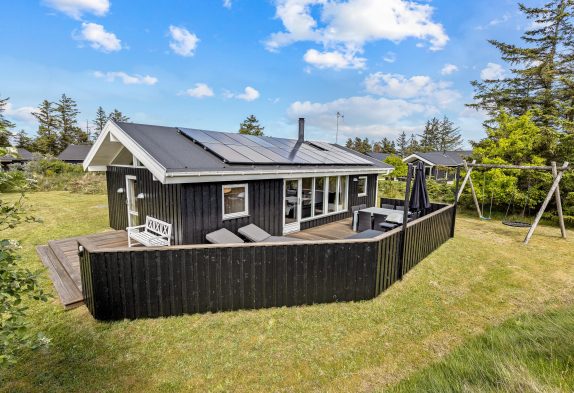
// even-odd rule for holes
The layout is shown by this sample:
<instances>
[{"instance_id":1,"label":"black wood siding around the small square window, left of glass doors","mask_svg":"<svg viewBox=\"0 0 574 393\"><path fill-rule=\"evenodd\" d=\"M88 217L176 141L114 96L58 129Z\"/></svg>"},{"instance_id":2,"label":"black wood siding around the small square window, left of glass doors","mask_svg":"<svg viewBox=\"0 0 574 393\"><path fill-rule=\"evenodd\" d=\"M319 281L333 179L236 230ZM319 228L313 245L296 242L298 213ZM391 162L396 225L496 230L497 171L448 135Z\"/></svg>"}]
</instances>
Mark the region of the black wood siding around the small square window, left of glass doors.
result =
<instances>
[{"instance_id":1,"label":"black wood siding around the small square window, left of glass doors","mask_svg":"<svg viewBox=\"0 0 574 393\"><path fill-rule=\"evenodd\" d=\"M205 243L205 235L220 228L233 233L242 226L255 224L272 235L283 230L283 180L244 182L249 188L249 216L223 220L224 184L192 183L182 185L185 218L183 223L186 244Z\"/></svg>"}]
</instances>

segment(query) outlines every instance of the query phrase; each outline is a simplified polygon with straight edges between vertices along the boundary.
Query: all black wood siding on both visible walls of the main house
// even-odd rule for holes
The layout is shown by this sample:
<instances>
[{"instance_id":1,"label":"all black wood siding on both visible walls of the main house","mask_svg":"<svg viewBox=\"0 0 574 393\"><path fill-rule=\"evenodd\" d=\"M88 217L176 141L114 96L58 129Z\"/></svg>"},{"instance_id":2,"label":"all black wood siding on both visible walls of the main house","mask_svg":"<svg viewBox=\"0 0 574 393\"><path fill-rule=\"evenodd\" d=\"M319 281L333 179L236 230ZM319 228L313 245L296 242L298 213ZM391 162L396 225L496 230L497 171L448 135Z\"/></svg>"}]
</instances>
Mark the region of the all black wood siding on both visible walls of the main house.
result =
<instances>
[{"instance_id":1,"label":"all black wood siding on both visible walls of the main house","mask_svg":"<svg viewBox=\"0 0 574 393\"><path fill-rule=\"evenodd\" d=\"M127 194L118 194L126 188L126 175L137 178L137 192L145 198L137 200L141 223L149 215L169 222L173 228L173 244L205 243L205 235L220 228L231 232L248 224L255 224L271 235L283 233L283 179L247 181L249 187L249 216L223 220L222 185L232 183L161 184L154 181L145 168L108 167L108 204L110 226L125 229L128 226ZM357 196L357 182L349 176L347 211L301 222L301 229L328 224L351 216L351 207L376 205L377 175L368 175L367 196Z\"/></svg>"}]
</instances>

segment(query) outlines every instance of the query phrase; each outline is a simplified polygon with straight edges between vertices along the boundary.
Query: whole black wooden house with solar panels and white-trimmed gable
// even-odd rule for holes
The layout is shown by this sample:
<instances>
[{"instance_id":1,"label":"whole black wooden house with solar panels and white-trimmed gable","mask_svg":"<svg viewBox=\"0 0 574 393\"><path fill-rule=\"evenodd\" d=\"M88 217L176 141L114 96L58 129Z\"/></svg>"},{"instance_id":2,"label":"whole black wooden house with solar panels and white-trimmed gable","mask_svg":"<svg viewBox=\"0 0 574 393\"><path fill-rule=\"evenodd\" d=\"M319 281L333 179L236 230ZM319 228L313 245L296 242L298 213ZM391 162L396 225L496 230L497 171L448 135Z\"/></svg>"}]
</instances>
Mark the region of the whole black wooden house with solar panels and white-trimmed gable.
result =
<instances>
[{"instance_id":1,"label":"whole black wooden house with solar panels and white-trimmed gable","mask_svg":"<svg viewBox=\"0 0 574 393\"><path fill-rule=\"evenodd\" d=\"M375 206L377 176L393 167L325 142L108 121L84 160L105 171L110 226L146 216L173 226L172 244L205 243L253 223L281 235Z\"/></svg>"}]
</instances>

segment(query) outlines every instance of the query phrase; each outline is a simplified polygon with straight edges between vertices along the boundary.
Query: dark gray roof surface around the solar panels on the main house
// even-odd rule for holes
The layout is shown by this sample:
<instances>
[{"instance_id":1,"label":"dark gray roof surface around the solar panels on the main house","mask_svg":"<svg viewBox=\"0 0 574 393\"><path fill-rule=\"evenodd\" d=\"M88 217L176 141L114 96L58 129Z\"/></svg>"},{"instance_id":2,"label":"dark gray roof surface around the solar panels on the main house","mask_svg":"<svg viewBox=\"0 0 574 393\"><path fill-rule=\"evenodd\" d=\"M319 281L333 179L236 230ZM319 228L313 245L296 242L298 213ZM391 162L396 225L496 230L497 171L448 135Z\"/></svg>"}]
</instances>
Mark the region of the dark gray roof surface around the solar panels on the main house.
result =
<instances>
[{"instance_id":1,"label":"dark gray roof surface around the solar panels on the main house","mask_svg":"<svg viewBox=\"0 0 574 393\"><path fill-rule=\"evenodd\" d=\"M392 168L392 166L368 157L366 155L357 153L351 149L347 149L343 146L328 144L332 146L333 149L341 150L345 154L351 153L352 156L356 157L356 161L359 164L301 164L300 162L288 164L285 161L269 162L266 164L262 163L230 163L226 162L218 155L209 151L209 149L204 148L199 143L194 143L191 138L183 135L181 129L178 127L164 127L155 126L147 124L136 124L136 123L116 123L135 143L137 143L142 149L144 149L148 154L150 154L161 166L167 169L168 172L186 172L189 170L194 171L214 171L214 170L226 170L226 171L249 171L254 169L289 169L293 167L297 168L349 168L351 165L353 168ZM196 130L197 132L202 132L205 130ZM216 131L208 131L210 135L212 133L219 134L221 137L226 135L236 135L230 133L217 133ZM293 140L284 138L274 138L265 137L265 140L274 145L284 146L286 149L283 153L292 154L292 146L295 144ZM288 141L289 143L286 143ZM313 142L311 142L313 143ZM318 142L322 144L323 142ZM296 152L294 153L296 154Z\"/></svg>"}]
</instances>

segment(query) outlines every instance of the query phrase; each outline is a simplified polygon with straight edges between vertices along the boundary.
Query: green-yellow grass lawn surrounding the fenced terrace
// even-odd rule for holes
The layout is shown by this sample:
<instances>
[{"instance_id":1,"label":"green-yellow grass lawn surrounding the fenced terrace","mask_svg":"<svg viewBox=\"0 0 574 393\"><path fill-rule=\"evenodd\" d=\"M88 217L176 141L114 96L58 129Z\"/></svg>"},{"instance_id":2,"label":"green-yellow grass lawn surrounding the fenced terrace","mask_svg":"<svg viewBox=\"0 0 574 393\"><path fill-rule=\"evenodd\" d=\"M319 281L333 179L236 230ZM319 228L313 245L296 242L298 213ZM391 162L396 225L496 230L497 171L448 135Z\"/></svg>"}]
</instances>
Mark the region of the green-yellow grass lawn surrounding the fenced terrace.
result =
<instances>
[{"instance_id":1,"label":"green-yellow grass lawn surrounding the fenced terrace","mask_svg":"<svg viewBox=\"0 0 574 393\"><path fill-rule=\"evenodd\" d=\"M103 195L29 198L45 222L10 237L30 268L35 245L107 227ZM30 302L51 344L0 370L0 392L571 391L574 243L524 234L459 217L454 239L364 302L114 323Z\"/></svg>"}]
</instances>

